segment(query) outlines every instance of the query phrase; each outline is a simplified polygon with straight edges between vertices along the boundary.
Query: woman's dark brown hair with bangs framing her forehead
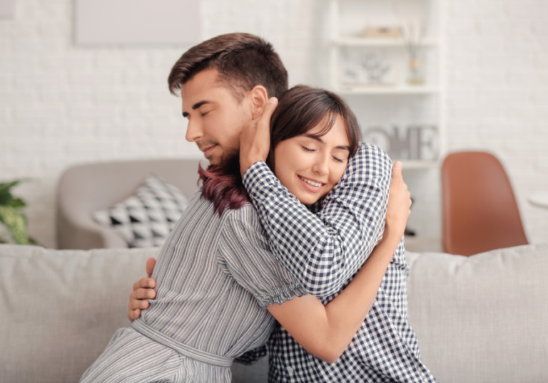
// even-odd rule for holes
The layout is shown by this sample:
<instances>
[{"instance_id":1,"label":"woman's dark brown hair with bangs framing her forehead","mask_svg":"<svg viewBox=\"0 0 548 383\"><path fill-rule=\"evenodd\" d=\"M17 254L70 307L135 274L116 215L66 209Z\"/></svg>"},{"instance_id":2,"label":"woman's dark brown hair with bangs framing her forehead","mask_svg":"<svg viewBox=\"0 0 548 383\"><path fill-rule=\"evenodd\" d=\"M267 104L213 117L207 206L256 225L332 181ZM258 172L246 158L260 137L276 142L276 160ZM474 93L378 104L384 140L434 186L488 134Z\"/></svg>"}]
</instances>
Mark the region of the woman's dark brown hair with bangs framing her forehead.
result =
<instances>
[{"instance_id":1,"label":"woman's dark brown hair with bangs framing her forehead","mask_svg":"<svg viewBox=\"0 0 548 383\"><path fill-rule=\"evenodd\" d=\"M318 125L323 126L314 135L321 137L333 128L337 116L342 117L345 122L350 157L353 157L362 133L356 116L345 100L329 90L310 88L307 85L295 85L285 92L278 100L278 106L270 119L268 167L274 172L274 149L280 142L305 133L310 134L310 130Z\"/></svg>"}]
</instances>

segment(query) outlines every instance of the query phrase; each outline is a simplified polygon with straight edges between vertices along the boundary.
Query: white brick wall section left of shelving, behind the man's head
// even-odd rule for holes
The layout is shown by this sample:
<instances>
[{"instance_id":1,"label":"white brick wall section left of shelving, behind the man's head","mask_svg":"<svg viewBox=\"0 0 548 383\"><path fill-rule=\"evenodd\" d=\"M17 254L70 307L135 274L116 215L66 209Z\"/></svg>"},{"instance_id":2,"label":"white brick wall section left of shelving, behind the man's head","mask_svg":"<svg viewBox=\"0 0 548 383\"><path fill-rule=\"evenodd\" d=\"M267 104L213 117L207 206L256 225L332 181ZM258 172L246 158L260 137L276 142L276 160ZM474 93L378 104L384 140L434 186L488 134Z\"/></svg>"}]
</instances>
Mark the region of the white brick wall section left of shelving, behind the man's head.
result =
<instances>
[{"instance_id":1,"label":"white brick wall section left of shelving, behind the man's head","mask_svg":"<svg viewBox=\"0 0 548 383\"><path fill-rule=\"evenodd\" d=\"M0 20L0 179L29 202L30 231L55 246L56 182L82 162L202 157L184 139L171 66L188 47L78 48L72 1L17 0ZM292 83L310 83L314 1L203 1L203 37L250 31L275 44ZM181 15L181 20L183 15Z\"/></svg>"}]
</instances>

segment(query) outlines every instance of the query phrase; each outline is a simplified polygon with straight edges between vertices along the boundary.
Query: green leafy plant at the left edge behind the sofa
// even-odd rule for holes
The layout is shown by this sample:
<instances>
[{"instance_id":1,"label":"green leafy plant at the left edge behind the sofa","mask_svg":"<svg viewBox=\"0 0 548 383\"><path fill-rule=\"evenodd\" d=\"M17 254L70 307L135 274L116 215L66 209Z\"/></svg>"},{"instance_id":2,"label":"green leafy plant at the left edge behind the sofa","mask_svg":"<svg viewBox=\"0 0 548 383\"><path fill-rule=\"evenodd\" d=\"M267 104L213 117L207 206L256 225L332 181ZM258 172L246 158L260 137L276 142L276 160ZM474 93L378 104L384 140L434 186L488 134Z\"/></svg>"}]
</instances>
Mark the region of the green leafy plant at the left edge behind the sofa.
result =
<instances>
[{"instance_id":1,"label":"green leafy plant at the left edge behind the sofa","mask_svg":"<svg viewBox=\"0 0 548 383\"><path fill-rule=\"evenodd\" d=\"M27 233L26 216L23 208L25 201L11 195L11 188L21 183L18 179L12 182L0 183L0 223L6 226L13 241L19 245L38 245L39 243ZM6 243L0 238L0 243Z\"/></svg>"}]
</instances>

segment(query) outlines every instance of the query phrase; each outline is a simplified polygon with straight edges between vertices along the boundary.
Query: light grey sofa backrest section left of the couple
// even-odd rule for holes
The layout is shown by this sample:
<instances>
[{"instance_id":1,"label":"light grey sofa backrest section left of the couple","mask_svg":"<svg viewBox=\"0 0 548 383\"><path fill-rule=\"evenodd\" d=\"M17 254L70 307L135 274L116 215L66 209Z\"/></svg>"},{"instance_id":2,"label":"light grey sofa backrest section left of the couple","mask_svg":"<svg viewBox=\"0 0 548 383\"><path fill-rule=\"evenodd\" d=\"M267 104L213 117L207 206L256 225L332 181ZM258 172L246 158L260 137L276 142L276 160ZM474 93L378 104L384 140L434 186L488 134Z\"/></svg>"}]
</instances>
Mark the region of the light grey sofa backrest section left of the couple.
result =
<instances>
[{"instance_id":1,"label":"light grey sofa backrest section left of the couple","mask_svg":"<svg viewBox=\"0 0 548 383\"><path fill-rule=\"evenodd\" d=\"M159 250L0 245L0 382L78 382L130 325L132 285Z\"/></svg>"}]
</instances>

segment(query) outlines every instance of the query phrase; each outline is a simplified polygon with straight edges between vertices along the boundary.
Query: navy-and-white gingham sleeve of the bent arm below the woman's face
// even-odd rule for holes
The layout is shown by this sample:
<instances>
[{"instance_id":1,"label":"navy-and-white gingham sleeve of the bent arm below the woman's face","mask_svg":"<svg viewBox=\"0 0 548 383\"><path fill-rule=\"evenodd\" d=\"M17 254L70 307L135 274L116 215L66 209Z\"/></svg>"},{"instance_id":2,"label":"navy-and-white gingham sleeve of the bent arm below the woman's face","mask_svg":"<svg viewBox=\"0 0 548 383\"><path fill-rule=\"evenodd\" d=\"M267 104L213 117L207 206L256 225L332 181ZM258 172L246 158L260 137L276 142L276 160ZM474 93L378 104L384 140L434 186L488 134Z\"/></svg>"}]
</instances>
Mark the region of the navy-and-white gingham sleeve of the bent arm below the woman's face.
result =
<instances>
[{"instance_id":1,"label":"navy-and-white gingham sleeve of the bent arm below the woman's face","mask_svg":"<svg viewBox=\"0 0 548 383\"><path fill-rule=\"evenodd\" d=\"M340 291L380 241L391 177L387 154L364 143L316 214L264 162L245 172L243 184L273 254L308 293L325 297Z\"/></svg>"}]
</instances>

